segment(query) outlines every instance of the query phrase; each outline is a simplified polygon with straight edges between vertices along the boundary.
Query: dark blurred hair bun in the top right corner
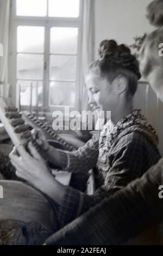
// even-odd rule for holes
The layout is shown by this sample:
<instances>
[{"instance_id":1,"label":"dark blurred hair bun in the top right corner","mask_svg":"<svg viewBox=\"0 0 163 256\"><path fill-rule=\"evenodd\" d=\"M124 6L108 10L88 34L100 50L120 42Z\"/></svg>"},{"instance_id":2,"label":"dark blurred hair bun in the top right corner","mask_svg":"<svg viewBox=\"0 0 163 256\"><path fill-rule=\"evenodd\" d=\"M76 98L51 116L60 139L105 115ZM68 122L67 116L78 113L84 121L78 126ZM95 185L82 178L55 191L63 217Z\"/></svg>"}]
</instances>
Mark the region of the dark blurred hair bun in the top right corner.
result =
<instances>
[{"instance_id":1,"label":"dark blurred hair bun in the top right corner","mask_svg":"<svg viewBox=\"0 0 163 256\"><path fill-rule=\"evenodd\" d=\"M153 26L163 26L163 1L152 1L152 3L150 3L147 7L146 16Z\"/></svg>"}]
</instances>

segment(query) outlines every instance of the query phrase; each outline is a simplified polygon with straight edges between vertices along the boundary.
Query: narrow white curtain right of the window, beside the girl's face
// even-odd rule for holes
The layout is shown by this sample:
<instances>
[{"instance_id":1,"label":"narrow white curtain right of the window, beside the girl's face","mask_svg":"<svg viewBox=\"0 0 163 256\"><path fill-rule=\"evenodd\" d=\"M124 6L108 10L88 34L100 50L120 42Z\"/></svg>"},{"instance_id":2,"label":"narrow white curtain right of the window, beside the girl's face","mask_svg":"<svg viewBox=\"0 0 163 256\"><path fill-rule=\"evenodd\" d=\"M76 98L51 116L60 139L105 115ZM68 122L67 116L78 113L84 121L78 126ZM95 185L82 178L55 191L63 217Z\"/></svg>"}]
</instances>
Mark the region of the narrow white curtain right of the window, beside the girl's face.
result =
<instances>
[{"instance_id":1,"label":"narrow white curtain right of the window, beside the girl's face","mask_svg":"<svg viewBox=\"0 0 163 256\"><path fill-rule=\"evenodd\" d=\"M95 0L84 0L83 21L83 55L82 55L82 88L80 95L81 110L88 109L87 92L84 87L84 79L90 63L95 58Z\"/></svg>"}]
</instances>

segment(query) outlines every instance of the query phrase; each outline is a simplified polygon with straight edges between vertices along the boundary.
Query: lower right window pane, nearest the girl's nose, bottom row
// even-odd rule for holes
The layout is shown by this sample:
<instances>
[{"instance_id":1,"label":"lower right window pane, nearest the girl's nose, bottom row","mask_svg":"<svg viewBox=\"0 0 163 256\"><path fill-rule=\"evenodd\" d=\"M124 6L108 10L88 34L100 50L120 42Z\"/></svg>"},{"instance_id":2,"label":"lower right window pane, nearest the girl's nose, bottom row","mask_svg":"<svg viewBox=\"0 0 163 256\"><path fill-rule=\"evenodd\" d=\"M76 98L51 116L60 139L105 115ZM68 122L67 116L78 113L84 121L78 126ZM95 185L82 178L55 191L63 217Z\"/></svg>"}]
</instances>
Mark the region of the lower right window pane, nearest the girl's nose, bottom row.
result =
<instances>
[{"instance_id":1,"label":"lower right window pane, nearest the girl's nose, bottom row","mask_svg":"<svg viewBox=\"0 0 163 256\"><path fill-rule=\"evenodd\" d=\"M49 88L49 105L74 106L74 82L51 82Z\"/></svg>"}]
</instances>

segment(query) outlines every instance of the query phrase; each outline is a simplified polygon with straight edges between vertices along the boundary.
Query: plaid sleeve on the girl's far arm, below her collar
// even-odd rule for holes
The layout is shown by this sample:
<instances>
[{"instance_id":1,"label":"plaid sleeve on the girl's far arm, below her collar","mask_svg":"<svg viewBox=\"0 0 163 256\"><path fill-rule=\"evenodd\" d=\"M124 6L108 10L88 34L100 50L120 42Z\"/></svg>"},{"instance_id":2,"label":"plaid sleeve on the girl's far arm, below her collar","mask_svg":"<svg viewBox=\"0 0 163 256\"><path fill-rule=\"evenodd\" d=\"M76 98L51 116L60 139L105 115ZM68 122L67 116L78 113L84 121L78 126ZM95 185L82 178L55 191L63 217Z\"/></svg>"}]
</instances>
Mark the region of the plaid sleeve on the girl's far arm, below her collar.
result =
<instances>
[{"instance_id":1,"label":"plaid sleeve on the girl's far arm, below her collar","mask_svg":"<svg viewBox=\"0 0 163 256\"><path fill-rule=\"evenodd\" d=\"M62 169L71 172L89 171L97 163L99 132L92 136L83 147L72 152L60 151Z\"/></svg>"}]
</instances>

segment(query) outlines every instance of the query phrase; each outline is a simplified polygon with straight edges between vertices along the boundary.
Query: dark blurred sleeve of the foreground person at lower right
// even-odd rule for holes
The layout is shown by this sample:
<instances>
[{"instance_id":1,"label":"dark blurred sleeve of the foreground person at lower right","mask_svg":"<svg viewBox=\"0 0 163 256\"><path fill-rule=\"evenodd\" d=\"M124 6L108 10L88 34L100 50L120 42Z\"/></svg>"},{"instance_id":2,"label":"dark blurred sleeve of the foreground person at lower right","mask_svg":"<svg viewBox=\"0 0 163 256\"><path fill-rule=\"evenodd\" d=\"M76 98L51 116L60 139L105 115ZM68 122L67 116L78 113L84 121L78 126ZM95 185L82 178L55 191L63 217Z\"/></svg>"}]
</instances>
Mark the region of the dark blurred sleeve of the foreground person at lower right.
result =
<instances>
[{"instance_id":1,"label":"dark blurred sleeve of the foreground person at lower right","mask_svg":"<svg viewBox=\"0 0 163 256\"><path fill-rule=\"evenodd\" d=\"M116 245L163 219L163 158L141 178L49 237L46 245Z\"/></svg>"}]
</instances>

